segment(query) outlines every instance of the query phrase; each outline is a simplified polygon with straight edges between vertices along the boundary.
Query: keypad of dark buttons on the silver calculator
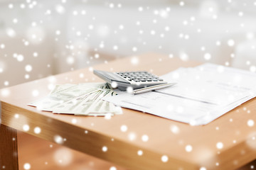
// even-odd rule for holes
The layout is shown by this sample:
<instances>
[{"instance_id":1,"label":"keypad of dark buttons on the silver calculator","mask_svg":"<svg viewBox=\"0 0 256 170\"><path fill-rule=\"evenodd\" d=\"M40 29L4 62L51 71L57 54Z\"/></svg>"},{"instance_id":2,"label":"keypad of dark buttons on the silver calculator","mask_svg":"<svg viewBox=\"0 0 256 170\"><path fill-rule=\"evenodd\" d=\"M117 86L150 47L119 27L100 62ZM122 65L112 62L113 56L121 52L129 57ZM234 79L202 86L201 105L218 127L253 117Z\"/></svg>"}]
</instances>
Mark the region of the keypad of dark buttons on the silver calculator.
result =
<instances>
[{"instance_id":1,"label":"keypad of dark buttons on the silver calculator","mask_svg":"<svg viewBox=\"0 0 256 170\"><path fill-rule=\"evenodd\" d=\"M163 79L160 79L149 72L117 72L117 74L128 81L134 81L137 83L164 81Z\"/></svg>"}]
</instances>

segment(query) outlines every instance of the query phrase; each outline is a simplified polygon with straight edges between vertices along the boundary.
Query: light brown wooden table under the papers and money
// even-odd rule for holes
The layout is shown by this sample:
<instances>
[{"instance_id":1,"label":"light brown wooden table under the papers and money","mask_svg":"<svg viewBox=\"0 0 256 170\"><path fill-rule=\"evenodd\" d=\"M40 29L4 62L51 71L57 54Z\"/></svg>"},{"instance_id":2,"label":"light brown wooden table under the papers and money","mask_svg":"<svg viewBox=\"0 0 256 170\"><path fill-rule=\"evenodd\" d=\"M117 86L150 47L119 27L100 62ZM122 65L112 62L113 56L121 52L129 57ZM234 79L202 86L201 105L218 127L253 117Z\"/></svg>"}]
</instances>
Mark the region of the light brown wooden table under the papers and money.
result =
<instances>
[{"instance_id":1,"label":"light brown wooden table under the papers and money","mask_svg":"<svg viewBox=\"0 0 256 170\"><path fill-rule=\"evenodd\" d=\"M161 75L178 67L198 64L147 54L94 68L110 72L147 70ZM92 74L92 68L86 68L1 89L0 165L6 169L18 169L16 130L51 142L56 142L56 137L59 137L63 139L60 145L127 169L237 169L256 158L256 125L247 125L248 120L256 122L256 99L203 126L191 126L124 108L122 115L114 115L108 120L58 115L26 106L46 96L50 92L49 86L87 81L102 80ZM38 96L33 96L35 91L38 91ZM126 132L120 130L122 125L127 126ZM178 128L178 132L172 132L173 126ZM28 127L29 130L26 129ZM34 132L35 128L41 128L41 132ZM144 142L143 135L147 135L149 140ZM220 149L216 146L218 142L223 144ZM103 152L102 147L107 147L107 152ZM190 152L186 151L188 147Z\"/></svg>"}]
</instances>

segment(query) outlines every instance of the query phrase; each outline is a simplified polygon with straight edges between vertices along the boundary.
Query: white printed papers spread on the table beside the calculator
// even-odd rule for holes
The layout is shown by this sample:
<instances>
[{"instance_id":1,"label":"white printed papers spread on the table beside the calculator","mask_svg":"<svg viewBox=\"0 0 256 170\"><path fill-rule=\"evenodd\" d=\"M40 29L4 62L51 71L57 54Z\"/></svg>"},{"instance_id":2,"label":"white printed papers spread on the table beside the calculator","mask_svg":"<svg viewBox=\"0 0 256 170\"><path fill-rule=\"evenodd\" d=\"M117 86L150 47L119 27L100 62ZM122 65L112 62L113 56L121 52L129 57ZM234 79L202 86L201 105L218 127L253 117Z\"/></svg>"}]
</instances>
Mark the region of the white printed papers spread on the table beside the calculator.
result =
<instances>
[{"instance_id":1,"label":"white printed papers spread on the table beside the calculator","mask_svg":"<svg viewBox=\"0 0 256 170\"><path fill-rule=\"evenodd\" d=\"M182 123L206 125L256 96L255 73L217 64L179 68L161 78L177 84L144 94L122 93L103 99Z\"/></svg>"}]
</instances>

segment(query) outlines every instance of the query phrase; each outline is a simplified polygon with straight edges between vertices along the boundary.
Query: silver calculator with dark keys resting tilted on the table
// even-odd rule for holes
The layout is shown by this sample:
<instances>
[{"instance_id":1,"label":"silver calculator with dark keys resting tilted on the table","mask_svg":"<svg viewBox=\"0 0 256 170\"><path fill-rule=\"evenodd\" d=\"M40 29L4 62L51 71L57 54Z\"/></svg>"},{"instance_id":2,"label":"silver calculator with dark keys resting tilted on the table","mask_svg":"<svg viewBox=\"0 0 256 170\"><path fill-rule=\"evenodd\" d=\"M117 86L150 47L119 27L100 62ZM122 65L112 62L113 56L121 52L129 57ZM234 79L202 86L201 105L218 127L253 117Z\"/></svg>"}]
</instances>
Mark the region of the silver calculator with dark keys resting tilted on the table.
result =
<instances>
[{"instance_id":1,"label":"silver calculator with dark keys resting tilted on the table","mask_svg":"<svg viewBox=\"0 0 256 170\"><path fill-rule=\"evenodd\" d=\"M166 84L167 82L149 72L105 72L94 70L93 73L104 79L109 84L116 83L117 88L121 91L126 91L127 87L132 89L141 89L147 86L157 84Z\"/></svg>"}]
</instances>

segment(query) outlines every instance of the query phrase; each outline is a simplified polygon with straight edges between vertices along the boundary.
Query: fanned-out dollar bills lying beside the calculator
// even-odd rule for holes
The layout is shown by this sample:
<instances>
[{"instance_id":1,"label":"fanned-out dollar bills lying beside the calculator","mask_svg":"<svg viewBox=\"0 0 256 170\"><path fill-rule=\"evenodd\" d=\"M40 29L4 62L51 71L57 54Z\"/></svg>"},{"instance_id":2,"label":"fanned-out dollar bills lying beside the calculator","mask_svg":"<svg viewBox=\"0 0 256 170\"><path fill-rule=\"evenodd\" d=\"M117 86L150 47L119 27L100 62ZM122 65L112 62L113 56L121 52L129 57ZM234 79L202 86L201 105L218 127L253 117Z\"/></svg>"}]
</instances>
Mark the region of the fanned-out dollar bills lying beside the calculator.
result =
<instances>
[{"instance_id":1,"label":"fanned-out dollar bills lying beside the calculator","mask_svg":"<svg viewBox=\"0 0 256 170\"><path fill-rule=\"evenodd\" d=\"M105 96L117 95L111 86L105 83L63 84L45 98L28 103L40 111L53 113L104 116L122 114L122 108L103 101Z\"/></svg>"}]
</instances>

